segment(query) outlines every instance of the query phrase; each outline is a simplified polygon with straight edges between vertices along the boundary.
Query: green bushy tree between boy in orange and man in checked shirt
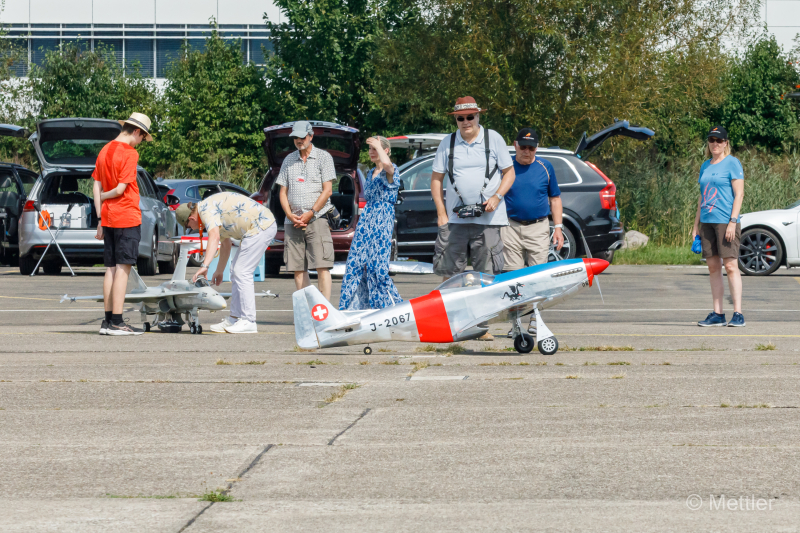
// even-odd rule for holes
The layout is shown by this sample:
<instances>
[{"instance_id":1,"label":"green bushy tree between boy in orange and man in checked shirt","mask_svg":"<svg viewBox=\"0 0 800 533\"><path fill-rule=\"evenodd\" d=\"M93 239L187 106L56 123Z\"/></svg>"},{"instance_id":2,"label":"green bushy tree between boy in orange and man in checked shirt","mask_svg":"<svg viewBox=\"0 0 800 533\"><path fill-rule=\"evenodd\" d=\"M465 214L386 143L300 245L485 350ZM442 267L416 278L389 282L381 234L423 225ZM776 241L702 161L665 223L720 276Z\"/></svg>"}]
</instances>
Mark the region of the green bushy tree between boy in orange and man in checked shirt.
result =
<instances>
[{"instance_id":1,"label":"green bushy tree between boy in orange and man in checked shirt","mask_svg":"<svg viewBox=\"0 0 800 533\"><path fill-rule=\"evenodd\" d=\"M265 168L264 127L269 92L253 63L245 63L240 41L216 31L204 50L184 44L182 58L167 69L164 109L169 117L153 144L158 170L200 178L220 165L237 171Z\"/></svg>"}]
</instances>

